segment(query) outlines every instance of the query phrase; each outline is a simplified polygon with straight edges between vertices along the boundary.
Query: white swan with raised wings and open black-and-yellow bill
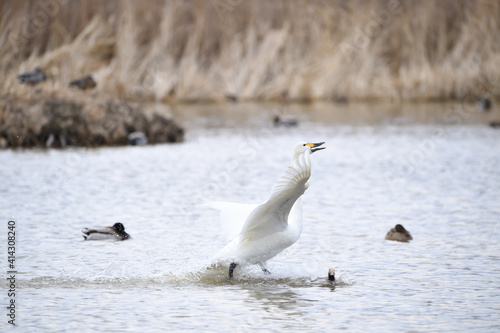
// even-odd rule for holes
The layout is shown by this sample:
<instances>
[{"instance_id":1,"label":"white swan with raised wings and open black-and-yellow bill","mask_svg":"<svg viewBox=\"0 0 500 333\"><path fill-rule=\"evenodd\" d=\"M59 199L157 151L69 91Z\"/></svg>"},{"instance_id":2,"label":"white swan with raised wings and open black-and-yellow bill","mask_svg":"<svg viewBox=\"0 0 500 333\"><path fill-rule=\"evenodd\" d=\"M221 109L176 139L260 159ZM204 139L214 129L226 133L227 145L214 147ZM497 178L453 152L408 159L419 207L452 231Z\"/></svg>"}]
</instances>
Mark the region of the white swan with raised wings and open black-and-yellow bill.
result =
<instances>
[{"instance_id":1,"label":"white swan with raised wings and open black-and-yellow bill","mask_svg":"<svg viewBox=\"0 0 500 333\"><path fill-rule=\"evenodd\" d=\"M266 261L297 241L302 232L300 196L311 176L310 155L325 149L320 143L299 143L267 201L258 205L213 202L207 205L221 211L221 223L231 239L216 256L216 262L229 264L229 278L237 265L258 264L265 273Z\"/></svg>"}]
</instances>

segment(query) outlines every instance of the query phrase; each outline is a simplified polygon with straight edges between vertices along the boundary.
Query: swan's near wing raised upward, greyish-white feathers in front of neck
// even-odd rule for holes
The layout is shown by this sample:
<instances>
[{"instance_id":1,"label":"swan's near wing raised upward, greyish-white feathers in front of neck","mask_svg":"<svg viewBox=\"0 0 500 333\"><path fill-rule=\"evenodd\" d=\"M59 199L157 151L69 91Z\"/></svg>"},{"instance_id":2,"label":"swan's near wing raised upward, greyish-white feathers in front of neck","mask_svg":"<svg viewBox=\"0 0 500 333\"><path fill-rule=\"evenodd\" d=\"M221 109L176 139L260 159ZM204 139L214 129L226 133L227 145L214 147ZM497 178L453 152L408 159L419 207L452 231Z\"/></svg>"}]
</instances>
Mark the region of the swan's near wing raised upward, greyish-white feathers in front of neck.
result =
<instances>
[{"instance_id":1,"label":"swan's near wing raised upward, greyish-white feathers in front of neck","mask_svg":"<svg viewBox=\"0 0 500 333\"><path fill-rule=\"evenodd\" d=\"M269 200L250 213L241 230L240 241L256 240L284 230L288 224L288 214L307 189L310 176L310 153L305 152L281 175Z\"/></svg>"}]
</instances>

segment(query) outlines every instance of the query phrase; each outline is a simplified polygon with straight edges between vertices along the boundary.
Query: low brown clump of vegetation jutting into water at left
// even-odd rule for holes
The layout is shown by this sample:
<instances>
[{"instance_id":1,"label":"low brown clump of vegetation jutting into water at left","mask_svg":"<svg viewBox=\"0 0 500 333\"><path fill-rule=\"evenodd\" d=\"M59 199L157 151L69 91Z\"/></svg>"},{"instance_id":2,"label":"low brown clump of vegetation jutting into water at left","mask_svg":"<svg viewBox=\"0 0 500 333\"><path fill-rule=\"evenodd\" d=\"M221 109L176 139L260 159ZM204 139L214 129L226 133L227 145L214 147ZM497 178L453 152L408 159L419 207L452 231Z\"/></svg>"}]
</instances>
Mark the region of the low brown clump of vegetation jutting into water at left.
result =
<instances>
[{"instance_id":1,"label":"low brown clump of vegetation jutting into water at left","mask_svg":"<svg viewBox=\"0 0 500 333\"><path fill-rule=\"evenodd\" d=\"M184 140L172 119L127 102L0 97L0 139L7 147L45 147L51 135L71 146L126 145L137 131L149 143Z\"/></svg>"}]
</instances>

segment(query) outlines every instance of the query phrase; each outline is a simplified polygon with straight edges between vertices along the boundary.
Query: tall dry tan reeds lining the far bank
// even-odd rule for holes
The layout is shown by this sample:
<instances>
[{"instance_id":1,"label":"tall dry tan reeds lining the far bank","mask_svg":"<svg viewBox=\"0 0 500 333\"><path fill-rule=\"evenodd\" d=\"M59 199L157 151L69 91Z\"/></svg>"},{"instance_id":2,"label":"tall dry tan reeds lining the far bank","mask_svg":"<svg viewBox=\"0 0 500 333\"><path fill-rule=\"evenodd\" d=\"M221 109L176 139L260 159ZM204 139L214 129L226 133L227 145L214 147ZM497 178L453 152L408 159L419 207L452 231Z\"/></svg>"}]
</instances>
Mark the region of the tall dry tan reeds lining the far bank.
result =
<instances>
[{"instance_id":1,"label":"tall dry tan reeds lining the far bank","mask_svg":"<svg viewBox=\"0 0 500 333\"><path fill-rule=\"evenodd\" d=\"M500 95L500 2L7 0L2 94L93 73L99 96L158 102ZM377 21L379 23L377 23Z\"/></svg>"}]
</instances>

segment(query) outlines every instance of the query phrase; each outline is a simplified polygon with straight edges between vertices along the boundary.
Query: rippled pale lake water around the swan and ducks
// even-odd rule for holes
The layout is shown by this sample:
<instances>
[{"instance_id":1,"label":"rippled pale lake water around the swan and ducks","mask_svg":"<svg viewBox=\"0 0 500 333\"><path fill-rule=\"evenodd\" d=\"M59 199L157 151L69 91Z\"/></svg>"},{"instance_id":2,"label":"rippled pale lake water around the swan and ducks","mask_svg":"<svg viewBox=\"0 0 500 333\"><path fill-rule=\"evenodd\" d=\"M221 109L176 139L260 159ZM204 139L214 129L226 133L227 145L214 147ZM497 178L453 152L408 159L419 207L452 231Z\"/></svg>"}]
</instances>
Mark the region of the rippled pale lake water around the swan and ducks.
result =
<instances>
[{"instance_id":1,"label":"rippled pale lake water around the swan and ducks","mask_svg":"<svg viewBox=\"0 0 500 333\"><path fill-rule=\"evenodd\" d=\"M459 106L169 110L186 142L0 151L0 248L16 222L16 331L500 330L500 130ZM258 267L207 269L208 200L260 202L299 141L312 155L296 244ZM83 241L122 222L130 241ZM395 224L410 243L384 240ZM327 281L329 267L337 283ZM0 327L7 324L1 280Z\"/></svg>"}]
</instances>

